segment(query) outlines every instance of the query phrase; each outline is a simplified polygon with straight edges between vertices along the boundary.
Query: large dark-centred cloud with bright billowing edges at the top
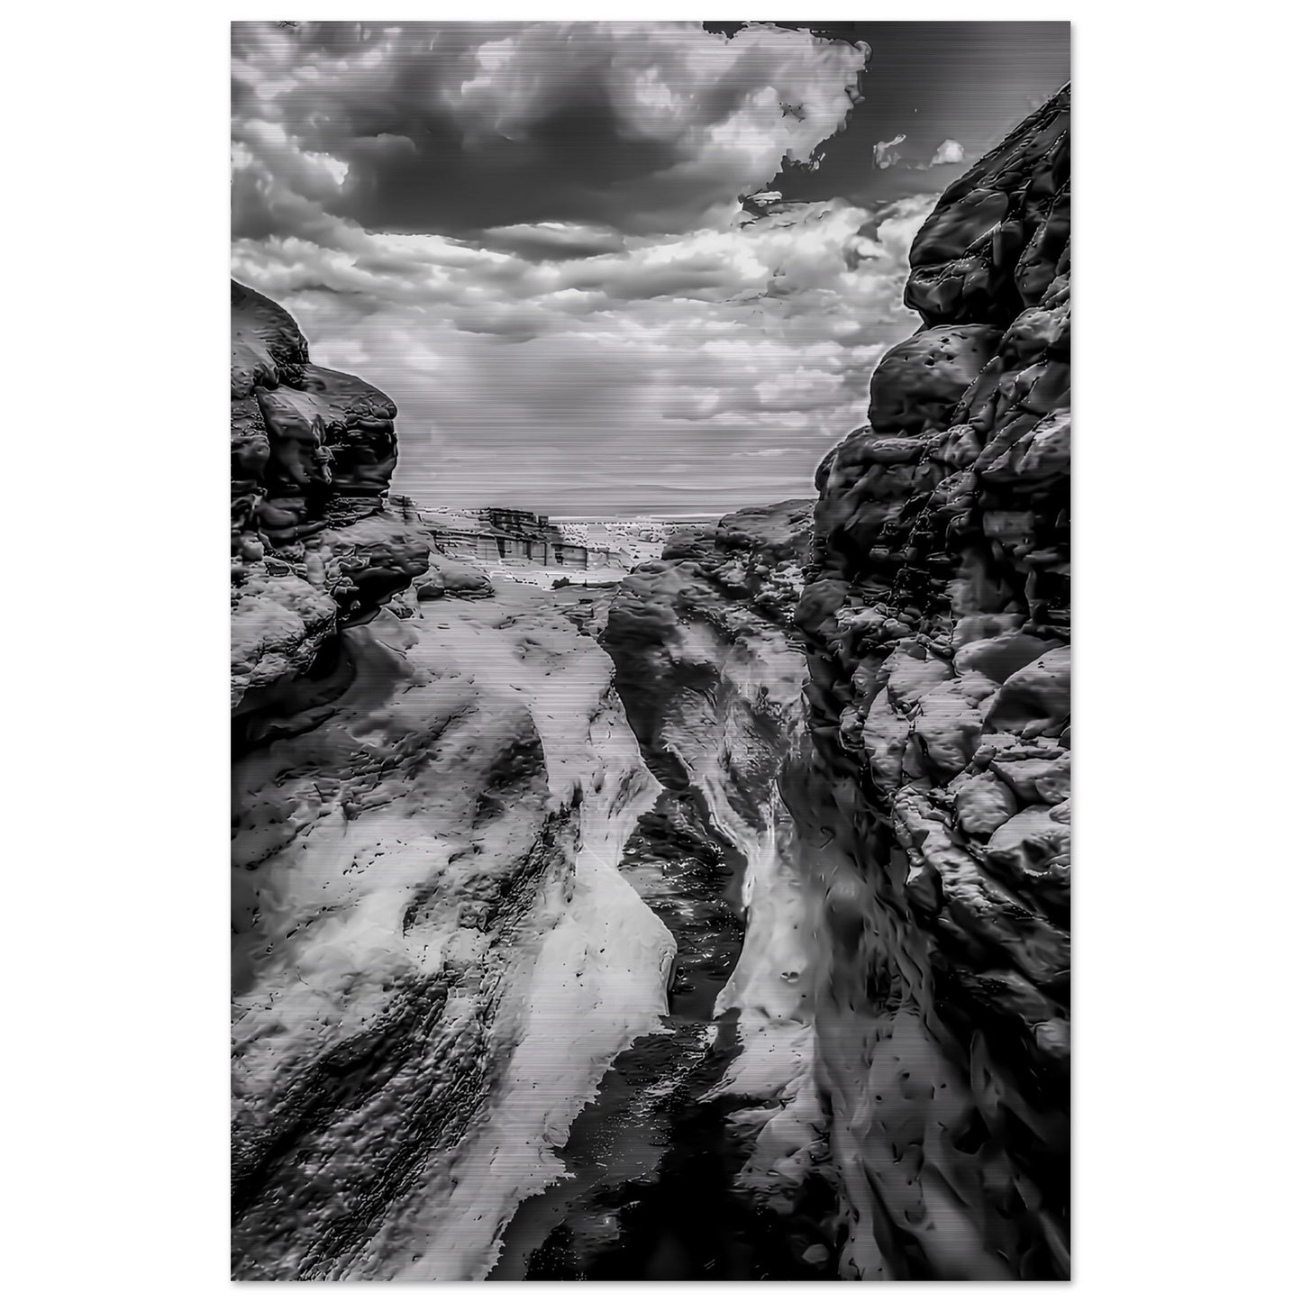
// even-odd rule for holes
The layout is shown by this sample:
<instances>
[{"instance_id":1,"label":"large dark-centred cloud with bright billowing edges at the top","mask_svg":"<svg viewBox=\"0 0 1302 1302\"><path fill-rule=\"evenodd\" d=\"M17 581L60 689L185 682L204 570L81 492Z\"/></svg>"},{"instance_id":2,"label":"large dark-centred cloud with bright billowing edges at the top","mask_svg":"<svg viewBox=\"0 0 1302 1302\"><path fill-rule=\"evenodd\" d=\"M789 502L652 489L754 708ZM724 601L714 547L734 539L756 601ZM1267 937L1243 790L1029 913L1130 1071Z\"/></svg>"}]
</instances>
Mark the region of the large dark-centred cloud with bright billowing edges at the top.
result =
<instances>
[{"instance_id":1,"label":"large dark-centred cloud with bright billowing edges at the top","mask_svg":"<svg viewBox=\"0 0 1302 1302\"><path fill-rule=\"evenodd\" d=\"M237 23L234 139L276 180L237 187L236 233L302 233L298 197L374 230L689 230L840 129L866 57L767 26ZM312 156L341 178L303 195Z\"/></svg>"}]
</instances>

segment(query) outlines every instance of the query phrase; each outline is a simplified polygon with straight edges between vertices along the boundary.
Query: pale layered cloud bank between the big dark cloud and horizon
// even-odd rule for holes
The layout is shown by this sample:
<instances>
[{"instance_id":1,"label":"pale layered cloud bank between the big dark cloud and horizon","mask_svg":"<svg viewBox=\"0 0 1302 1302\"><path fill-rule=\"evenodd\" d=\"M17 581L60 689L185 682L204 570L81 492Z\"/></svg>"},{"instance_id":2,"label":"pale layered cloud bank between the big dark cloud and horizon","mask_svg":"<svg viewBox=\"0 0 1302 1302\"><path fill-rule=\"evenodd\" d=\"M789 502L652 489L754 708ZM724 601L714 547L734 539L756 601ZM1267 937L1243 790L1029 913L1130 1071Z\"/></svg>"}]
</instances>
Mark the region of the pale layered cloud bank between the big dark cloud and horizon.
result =
<instances>
[{"instance_id":1,"label":"pale layered cloud bank between the big dark cloud and horizon","mask_svg":"<svg viewBox=\"0 0 1302 1302\"><path fill-rule=\"evenodd\" d=\"M423 500L723 510L810 493L862 423L874 365L917 326L900 298L934 202L779 204L596 254L553 230L547 260L350 227L341 247L238 241L234 275L395 398L397 486ZM651 484L671 462L691 470Z\"/></svg>"}]
</instances>

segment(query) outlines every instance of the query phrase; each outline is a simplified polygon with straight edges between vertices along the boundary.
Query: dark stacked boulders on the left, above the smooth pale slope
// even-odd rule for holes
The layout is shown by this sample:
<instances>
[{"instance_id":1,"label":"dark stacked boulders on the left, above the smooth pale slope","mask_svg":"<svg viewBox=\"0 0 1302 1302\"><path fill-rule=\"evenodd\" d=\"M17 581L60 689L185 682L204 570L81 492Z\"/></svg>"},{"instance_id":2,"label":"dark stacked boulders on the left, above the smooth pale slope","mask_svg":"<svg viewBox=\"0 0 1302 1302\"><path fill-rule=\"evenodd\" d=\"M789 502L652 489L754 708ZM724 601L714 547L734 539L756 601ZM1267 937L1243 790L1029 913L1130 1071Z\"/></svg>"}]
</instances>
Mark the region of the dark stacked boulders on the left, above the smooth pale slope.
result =
<instances>
[{"instance_id":1,"label":"dark stacked boulders on the left, above the smooth pale slope","mask_svg":"<svg viewBox=\"0 0 1302 1302\"><path fill-rule=\"evenodd\" d=\"M294 319L230 283L230 697L306 672L339 629L428 566L384 509L397 408L309 361Z\"/></svg>"}]
</instances>

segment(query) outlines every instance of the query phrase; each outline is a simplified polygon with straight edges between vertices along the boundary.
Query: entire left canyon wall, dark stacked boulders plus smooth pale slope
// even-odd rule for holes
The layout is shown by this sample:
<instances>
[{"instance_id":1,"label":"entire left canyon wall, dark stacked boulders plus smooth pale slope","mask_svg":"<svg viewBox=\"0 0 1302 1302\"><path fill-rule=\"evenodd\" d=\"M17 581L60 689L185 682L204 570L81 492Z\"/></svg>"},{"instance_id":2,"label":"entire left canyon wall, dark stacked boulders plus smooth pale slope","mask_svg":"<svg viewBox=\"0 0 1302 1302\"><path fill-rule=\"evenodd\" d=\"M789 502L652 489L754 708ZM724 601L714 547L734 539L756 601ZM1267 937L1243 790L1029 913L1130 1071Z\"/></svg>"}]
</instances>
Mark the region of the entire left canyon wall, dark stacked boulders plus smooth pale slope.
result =
<instances>
[{"instance_id":1,"label":"entire left canyon wall, dark stacked boulders plus smooth pale slope","mask_svg":"<svg viewBox=\"0 0 1302 1302\"><path fill-rule=\"evenodd\" d=\"M482 1277L660 1029L660 786L549 594L385 508L393 404L232 307L233 1275Z\"/></svg>"}]
</instances>

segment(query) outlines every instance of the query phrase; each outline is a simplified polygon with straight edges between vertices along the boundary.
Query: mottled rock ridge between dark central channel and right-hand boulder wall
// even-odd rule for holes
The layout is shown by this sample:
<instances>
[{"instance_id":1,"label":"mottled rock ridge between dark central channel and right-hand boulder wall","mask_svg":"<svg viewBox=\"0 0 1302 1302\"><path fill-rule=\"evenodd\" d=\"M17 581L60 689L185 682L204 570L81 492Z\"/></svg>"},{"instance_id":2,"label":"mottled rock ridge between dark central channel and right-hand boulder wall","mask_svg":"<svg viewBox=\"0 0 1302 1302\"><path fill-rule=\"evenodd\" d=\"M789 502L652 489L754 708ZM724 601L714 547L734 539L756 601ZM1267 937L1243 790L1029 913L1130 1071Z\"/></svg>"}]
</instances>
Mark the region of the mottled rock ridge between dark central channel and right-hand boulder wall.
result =
<instances>
[{"instance_id":1,"label":"mottled rock ridge between dark central channel and right-hand boulder wall","mask_svg":"<svg viewBox=\"0 0 1302 1302\"><path fill-rule=\"evenodd\" d=\"M743 862L745 943L715 1004L716 1017L736 1010L741 1053L713 1094L749 1104L730 1121L749 1131L751 1154L737 1186L784 1219L809 1202L823 1121L812 1074L818 901L777 792L803 733L792 612L811 506L756 506L672 536L660 560L621 582L602 634L643 755ZM793 1233L805 1233L797 1220Z\"/></svg>"}]
</instances>

